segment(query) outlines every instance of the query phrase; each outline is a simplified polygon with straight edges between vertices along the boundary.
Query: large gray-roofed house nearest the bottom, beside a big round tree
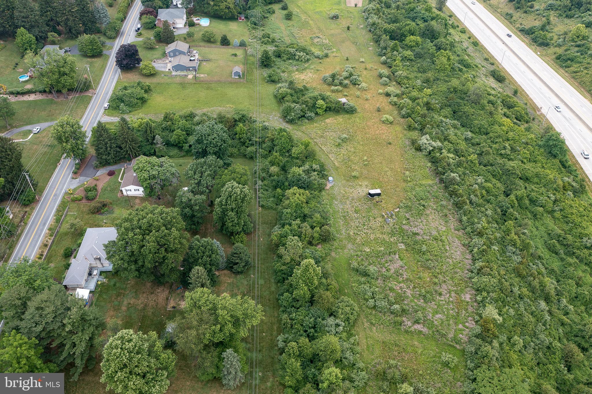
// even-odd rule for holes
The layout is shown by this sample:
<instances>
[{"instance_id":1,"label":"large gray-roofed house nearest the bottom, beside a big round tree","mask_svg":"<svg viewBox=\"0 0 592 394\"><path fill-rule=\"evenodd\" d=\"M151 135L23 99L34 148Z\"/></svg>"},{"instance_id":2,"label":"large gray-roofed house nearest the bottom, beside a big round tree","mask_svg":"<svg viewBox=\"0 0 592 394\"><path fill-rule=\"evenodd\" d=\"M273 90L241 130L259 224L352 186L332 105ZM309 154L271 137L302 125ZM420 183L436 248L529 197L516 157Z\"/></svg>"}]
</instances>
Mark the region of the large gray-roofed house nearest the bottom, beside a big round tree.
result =
<instances>
[{"instance_id":1,"label":"large gray-roofed house nearest the bottom, beside a big round tree","mask_svg":"<svg viewBox=\"0 0 592 394\"><path fill-rule=\"evenodd\" d=\"M117 238L115 227L87 228L76 257L72 259L63 285L68 289L93 291L102 279L101 272L111 271L113 266L107 260L105 244Z\"/></svg>"}]
</instances>

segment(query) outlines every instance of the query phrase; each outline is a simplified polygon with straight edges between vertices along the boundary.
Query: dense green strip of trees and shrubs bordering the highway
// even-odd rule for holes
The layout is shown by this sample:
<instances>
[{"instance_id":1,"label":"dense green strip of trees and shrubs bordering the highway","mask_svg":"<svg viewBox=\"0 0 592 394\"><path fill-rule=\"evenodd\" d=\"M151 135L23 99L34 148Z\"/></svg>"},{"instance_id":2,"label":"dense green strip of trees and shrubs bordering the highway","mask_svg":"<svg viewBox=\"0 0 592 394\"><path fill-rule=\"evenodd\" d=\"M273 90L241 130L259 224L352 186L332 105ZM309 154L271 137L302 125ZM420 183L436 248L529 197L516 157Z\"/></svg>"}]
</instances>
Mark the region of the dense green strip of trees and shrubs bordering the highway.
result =
<instances>
[{"instance_id":1,"label":"dense green strip of trees and shrubs bordering the highway","mask_svg":"<svg viewBox=\"0 0 592 394\"><path fill-rule=\"evenodd\" d=\"M369 0L363 15L411 143L471 237L467 392L590 392L592 203L561 136L475 79L481 66L429 2Z\"/></svg>"}]
</instances>

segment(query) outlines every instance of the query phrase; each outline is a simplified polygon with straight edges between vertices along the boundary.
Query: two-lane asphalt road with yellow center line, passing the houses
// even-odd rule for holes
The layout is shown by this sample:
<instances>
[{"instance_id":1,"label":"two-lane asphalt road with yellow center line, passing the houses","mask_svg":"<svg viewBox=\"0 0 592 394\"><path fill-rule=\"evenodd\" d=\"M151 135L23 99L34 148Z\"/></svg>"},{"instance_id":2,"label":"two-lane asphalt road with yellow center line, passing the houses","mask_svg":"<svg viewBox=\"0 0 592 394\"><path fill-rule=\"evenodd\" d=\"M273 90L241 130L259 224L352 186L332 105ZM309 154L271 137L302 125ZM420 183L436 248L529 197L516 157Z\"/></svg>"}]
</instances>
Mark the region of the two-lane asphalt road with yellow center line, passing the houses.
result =
<instances>
[{"instance_id":1,"label":"two-lane asphalt road with yellow center line, passing the houses","mask_svg":"<svg viewBox=\"0 0 592 394\"><path fill-rule=\"evenodd\" d=\"M117 51L121 44L129 43L136 36L134 28L136 27L141 8L140 0L136 0L131 5L130 12L124 21L123 28L121 28L121 33L117 37L117 40L115 40L112 54ZM101 82L99 82L96 93L91 99L91 104L86 108L86 112L81 119L82 127L86 131L87 140L91 137L92 127L101 118L103 106L110 98L118 77L119 68L115 66L115 56L110 56L107 67L105 67L105 72L101 77ZM73 169L74 161L72 159L62 159L58 164L52 179L50 179L47 188L43 192L43 196L41 196L41 202L29 219L24 232L22 232L21 239L18 241L17 247L10 259L11 264L14 264L24 256L34 258L37 255L47 228L52 222L53 215L56 213L57 206L62 201L67 182L70 179ZM51 171L51 169L47 170Z\"/></svg>"}]
</instances>

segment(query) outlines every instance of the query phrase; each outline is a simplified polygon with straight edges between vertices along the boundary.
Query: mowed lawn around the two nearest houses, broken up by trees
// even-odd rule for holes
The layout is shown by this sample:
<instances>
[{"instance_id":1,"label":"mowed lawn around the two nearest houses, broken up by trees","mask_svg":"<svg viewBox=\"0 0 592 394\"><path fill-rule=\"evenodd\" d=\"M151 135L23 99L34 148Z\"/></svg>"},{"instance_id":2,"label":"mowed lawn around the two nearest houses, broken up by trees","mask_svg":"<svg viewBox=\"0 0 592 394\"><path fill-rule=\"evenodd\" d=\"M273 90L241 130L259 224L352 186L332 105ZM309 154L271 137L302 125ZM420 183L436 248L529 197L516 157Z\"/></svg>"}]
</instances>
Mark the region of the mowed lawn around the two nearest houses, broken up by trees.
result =
<instances>
[{"instance_id":1,"label":"mowed lawn around the two nearest houses, broken up by trees","mask_svg":"<svg viewBox=\"0 0 592 394\"><path fill-rule=\"evenodd\" d=\"M181 174L186 166L192 161L191 157L182 157L171 159L178 167ZM235 159L235 163L248 166L253 169L253 161L247 159ZM117 219L123 216L132 207L149 202L149 204L163 204L172 206L176 191L186 186L185 177L182 176L179 185L165 189L163 198L155 201L150 198L119 198L117 193L120 182L118 177L121 170L105 183L101 189L99 199L110 199L113 202L113 211L110 215L96 215L89 212L89 204L69 202L70 208L66 215L62 228L57 234L56 240L47 256L47 263L52 266L53 276L56 279L62 279L69 264L69 259L62 256L62 251L67 246L75 245L76 241L84 235L86 227L109 227L115 224ZM217 191L213 191L215 195ZM67 204L65 200L62 204ZM254 204L252 206L254 209ZM275 212L263 209L260 211L262 243L260 246L260 299L259 303L263 305L266 319L260 325L260 347L259 347L259 369L262 372L260 376L260 388L265 387L265 392L279 392L280 387L276 382L272 372L277 360L278 353L275 346L275 338L279 335L279 322L275 318L278 315L278 304L275 298L277 290L273 281L272 260L273 253L271 244L269 244L269 234L276 224ZM75 219L80 219L84 228L78 231L69 230L67 224ZM232 244L230 238L215 230L213 226L213 215L210 213L205 219L201 230L191 235L200 235L200 237L212 237L220 241L226 253L231 250ZM249 238L248 247L251 247ZM107 283L102 283L95 290L94 308L98 308L105 319L116 318L120 320L123 328L132 328L140 331L162 332L166 327L166 321L171 319L176 311L167 310L169 296L175 292L177 285L167 283L166 285L157 285L156 283L147 283L140 280L124 280L117 275L107 273ZM218 284L215 292L230 293L231 295L243 295L253 297L252 269L244 274L236 275L227 271L220 272ZM248 339L248 338L247 338ZM85 370L77 382L66 383L66 392L73 393L103 393L105 387L99 382L101 377L100 367L97 365L94 369ZM179 356L177 363L177 374L172 380L168 393L182 393L187 390L194 392L221 392L223 387L218 380L210 382L198 382L191 373L191 365L187 360ZM247 385L242 385L237 389L239 393L246 393Z\"/></svg>"}]
</instances>

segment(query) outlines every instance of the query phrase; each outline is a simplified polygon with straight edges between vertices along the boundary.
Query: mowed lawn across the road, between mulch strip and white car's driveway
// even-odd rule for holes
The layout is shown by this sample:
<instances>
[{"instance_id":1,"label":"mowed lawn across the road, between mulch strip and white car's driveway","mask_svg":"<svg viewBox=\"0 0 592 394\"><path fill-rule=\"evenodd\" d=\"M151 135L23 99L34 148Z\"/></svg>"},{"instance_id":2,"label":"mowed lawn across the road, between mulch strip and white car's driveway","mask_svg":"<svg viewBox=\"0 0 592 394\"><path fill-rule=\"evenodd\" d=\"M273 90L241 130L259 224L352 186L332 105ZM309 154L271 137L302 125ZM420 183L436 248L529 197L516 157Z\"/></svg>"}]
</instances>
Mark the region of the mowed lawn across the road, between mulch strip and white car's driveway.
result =
<instances>
[{"instance_id":1,"label":"mowed lawn across the road, between mulch strip and white car's driveway","mask_svg":"<svg viewBox=\"0 0 592 394\"><path fill-rule=\"evenodd\" d=\"M13 101L17 111L8 121L9 129L58 120L63 114L80 119L91 102L91 96L74 96L67 100L39 99ZM0 133L7 131L6 124L0 122Z\"/></svg>"}]
</instances>

